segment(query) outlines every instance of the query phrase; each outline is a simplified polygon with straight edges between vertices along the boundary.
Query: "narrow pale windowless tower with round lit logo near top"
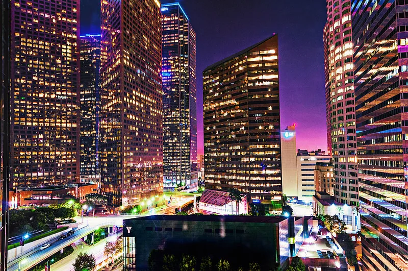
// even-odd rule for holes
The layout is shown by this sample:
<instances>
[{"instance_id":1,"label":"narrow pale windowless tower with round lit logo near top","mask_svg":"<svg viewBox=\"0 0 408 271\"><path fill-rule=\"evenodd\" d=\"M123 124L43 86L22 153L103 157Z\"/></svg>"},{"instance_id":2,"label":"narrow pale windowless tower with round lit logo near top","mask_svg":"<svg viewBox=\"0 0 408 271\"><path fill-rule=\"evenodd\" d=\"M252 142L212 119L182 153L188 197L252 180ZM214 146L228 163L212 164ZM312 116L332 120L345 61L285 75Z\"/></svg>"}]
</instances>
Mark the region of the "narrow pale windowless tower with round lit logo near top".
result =
<instances>
[{"instance_id":1,"label":"narrow pale windowless tower with round lit logo near top","mask_svg":"<svg viewBox=\"0 0 408 271\"><path fill-rule=\"evenodd\" d=\"M288 126L281 131L282 189L288 197L297 197L296 131Z\"/></svg>"}]
</instances>

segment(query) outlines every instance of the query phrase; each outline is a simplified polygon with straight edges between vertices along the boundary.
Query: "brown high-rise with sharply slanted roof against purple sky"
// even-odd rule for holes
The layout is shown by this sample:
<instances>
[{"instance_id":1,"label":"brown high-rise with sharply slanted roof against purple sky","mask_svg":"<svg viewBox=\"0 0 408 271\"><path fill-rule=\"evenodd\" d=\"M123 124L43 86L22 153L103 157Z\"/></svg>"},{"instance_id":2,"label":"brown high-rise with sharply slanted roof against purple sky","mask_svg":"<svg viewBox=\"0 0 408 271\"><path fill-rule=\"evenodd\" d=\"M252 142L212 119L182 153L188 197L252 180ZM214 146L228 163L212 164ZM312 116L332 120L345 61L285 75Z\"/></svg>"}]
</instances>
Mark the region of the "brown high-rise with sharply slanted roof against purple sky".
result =
<instances>
[{"instance_id":1,"label":"brown high-rise with sharply slanted roof against purple sky","mask_svg":"<svg viewBox=\"0 0 408 271\"><path fill-rule=\"evenodd\" d=\"M203 71L206 188L282 199L277 35Z\"/></svg>"}]
</instances>

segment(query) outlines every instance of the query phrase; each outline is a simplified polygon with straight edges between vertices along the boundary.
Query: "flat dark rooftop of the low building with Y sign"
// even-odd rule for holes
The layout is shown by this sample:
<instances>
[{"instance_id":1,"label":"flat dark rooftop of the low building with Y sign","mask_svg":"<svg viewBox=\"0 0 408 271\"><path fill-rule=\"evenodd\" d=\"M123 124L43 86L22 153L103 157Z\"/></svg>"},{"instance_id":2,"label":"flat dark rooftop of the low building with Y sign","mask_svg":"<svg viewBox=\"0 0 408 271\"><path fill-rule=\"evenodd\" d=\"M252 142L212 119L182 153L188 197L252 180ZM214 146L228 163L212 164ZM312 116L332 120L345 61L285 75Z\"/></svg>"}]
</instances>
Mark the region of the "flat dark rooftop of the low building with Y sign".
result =
<instances>
[{"instance_id":1,"label":"flat dark rooftop of the low building with Y sign","mask_svg":"<svg viewBox=\"0 0 408 271\"><path fill-rule=\"evenodd\" d=\"M284 216L249 216L249 215L150 215L131 220L156 220L156 221L211 221L211 222L241 222L241 223L279 223L285 219Z\"/></svg>"}]
</instances>

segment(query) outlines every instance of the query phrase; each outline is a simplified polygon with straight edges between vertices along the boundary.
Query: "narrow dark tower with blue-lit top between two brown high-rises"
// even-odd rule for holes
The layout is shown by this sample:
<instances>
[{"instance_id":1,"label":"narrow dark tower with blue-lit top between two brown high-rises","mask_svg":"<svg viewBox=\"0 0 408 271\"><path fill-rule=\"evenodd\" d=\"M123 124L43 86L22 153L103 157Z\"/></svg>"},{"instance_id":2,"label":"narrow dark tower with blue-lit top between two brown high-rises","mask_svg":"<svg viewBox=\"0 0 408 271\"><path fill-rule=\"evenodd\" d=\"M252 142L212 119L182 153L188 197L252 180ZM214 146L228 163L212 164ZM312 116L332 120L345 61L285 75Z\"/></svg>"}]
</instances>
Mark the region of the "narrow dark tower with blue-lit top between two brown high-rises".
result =
<instances>
[{"instance_id":1,"label":"narrow dark tower with blue-lit top between two brown high-rises","mask_svg":"<svg viewBox=\"0 0 408 271\"><path fill-rule=\"evenodd\" d=\"M81 35L81 178L98 178L100 35Z\"/></svg>"}]
</instances>

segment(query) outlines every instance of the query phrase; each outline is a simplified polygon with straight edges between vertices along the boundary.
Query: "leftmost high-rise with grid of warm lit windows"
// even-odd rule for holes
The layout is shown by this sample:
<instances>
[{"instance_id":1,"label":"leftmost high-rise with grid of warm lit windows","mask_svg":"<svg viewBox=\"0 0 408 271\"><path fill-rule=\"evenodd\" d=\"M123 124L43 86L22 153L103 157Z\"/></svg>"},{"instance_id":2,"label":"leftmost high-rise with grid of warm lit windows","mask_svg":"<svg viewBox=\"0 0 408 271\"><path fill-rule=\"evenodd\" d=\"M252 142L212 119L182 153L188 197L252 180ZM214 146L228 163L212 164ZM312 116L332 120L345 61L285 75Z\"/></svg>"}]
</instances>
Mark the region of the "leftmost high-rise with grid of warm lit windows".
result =
<instances>
[{"instance_id":1,"label":"leftmost high-rise with grid of warm lit windows","mask_svg":"<svg viewBox=\"0 0 408 271\"><path fill-rule=\"evenodd\" d=\"M79 8L11 1L11 187L79 181Z\"/></svg>"}]
</instances>

